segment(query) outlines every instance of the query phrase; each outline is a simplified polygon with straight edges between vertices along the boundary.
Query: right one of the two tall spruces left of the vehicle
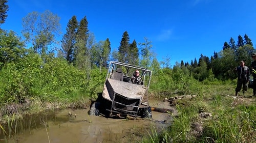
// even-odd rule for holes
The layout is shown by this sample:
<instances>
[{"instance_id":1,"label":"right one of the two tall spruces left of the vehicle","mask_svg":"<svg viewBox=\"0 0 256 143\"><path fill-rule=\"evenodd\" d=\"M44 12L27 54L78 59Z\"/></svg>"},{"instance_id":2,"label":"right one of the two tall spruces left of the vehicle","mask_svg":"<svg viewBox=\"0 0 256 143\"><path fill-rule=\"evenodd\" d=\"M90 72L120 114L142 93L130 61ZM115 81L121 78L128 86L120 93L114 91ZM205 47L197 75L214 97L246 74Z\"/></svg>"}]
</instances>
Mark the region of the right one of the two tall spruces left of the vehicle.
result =
<instances>
[{"instance_id":1,"label":"right one of the two tall spruces left of the vehicle","mask_svg":"<svg viewBox=\"0 0 256 143\"><path fill-rule=\"evenodd\" d=\"M88 21L86 16L84 16L79 22L79 26L76 34L76 44L74 48L74 65L78 69L84 69L88 67L88 64L90 63L90 51L87 45L88 42L89 42Z\"/></svg>"}]
</instances>

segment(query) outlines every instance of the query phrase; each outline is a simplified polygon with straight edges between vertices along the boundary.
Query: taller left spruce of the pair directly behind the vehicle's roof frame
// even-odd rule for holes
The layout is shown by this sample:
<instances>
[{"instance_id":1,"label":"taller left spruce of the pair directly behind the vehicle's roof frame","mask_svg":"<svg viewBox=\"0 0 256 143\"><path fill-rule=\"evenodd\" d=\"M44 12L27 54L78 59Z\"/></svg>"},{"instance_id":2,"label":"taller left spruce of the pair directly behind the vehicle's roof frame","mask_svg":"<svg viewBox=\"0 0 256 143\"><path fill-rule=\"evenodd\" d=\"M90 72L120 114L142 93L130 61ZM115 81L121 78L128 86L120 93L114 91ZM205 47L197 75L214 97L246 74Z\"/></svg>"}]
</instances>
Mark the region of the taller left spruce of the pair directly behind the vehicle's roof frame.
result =
<instances>
[{"instance_id":1,"label":"taller left spruce of the pair directly behind the vehicle's roof frame","mask_svg":"<svg viewBox=\"0 0 256 143\"><path fill-rule=\"evenodd\" d=\"M118 47L118 61L122 63L129 63L128 52L129 52L130 37L127 31L122 35L120 46Z\"/></svg>"}]
</instances>

